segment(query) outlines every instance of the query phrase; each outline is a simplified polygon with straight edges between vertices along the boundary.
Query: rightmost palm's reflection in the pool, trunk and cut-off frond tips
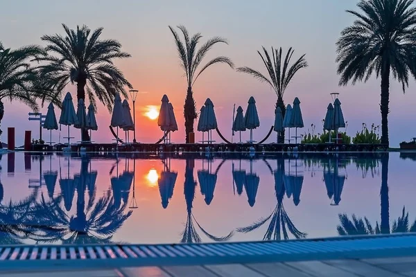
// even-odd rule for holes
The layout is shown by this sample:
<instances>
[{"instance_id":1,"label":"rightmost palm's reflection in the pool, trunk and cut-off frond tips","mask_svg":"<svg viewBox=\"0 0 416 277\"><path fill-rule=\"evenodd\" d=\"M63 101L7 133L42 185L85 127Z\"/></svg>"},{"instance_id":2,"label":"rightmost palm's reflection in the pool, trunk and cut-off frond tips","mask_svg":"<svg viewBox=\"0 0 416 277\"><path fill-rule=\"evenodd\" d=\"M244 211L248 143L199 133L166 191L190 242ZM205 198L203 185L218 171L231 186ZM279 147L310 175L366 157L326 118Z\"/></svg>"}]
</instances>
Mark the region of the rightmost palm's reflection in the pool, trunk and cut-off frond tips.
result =
<instances>
[{"instance_id":1,"label":"rightmost palm's reflection in the pool, trunk and cut-off frond tips","mask_svg":"<svg viewBox=\"0 0 416 277\"><path fill-rule=\"evenodd\" d=\"M415 232L416 221L412 226L408 226L408 213L403 208L401 217L393 222L390 230L390 203L388 197L388 159L389 153L381 154L381 190L380 190L380 204L381 204L381 222L376 222L373 228L367 217L362 218L352 215L352 220L349 220L348 215L340 214L340 225L337 226L337 231L340 235L365 235L378 233L397 233L397 232Z\"/></svg>"}]
</instances>

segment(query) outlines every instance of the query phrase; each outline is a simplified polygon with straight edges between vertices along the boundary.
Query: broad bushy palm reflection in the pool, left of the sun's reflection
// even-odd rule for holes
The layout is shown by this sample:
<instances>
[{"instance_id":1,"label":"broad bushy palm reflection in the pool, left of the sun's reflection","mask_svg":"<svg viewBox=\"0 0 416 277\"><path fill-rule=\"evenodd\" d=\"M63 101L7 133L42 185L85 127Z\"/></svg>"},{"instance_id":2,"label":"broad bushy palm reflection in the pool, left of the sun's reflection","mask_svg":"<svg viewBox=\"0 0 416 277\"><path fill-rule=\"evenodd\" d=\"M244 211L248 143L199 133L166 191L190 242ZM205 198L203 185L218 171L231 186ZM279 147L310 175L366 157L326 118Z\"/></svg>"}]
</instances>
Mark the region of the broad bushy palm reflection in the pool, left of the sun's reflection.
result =
<instances>
[{"instance_id":1,"label":"broad bushy palm reflection in the pool, left of the sun's reflection","mask_svg":"<svg viewBox=\"0 0 416 277\"><path fill-rule=\"evenodd\" d=\"M96 172L88 172L89 159L81 161L80 175L74 177L77 189L76 215L69 216L62 209L63 197L46 202L42 197L37 205L37 215L33 220L41 226L48 226L34 236L38 242L62 241L69 244L108 243L112 235L130 217L131 211L124 214L127 202L119 206L114 203L110 191L96 201L95 193L89 192L85 208L85 190L95 190Z\"/></svg>"}]
</instances>

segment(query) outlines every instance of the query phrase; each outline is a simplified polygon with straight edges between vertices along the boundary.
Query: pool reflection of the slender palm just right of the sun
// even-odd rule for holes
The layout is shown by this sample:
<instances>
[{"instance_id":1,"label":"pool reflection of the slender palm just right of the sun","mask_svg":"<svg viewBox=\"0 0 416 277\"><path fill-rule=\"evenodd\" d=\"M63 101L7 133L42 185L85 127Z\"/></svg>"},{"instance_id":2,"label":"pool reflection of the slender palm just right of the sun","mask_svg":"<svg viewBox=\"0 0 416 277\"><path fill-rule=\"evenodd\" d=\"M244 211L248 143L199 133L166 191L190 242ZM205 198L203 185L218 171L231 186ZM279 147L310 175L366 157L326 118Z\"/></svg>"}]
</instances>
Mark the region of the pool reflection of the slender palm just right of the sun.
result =
<instances>
[{"instance_id":1,"label":"pool reflection of the slender palm just right of the sun","mask_svg":"<svg viewBox=\"0 0 416 277\"><path fill-rule=\"evenodd\" d=\"M202 226L200 226L198 221L196 221L196 218L193 216L192 204L193 204L193 199L195 197L195 189L196 189L196 181L193 178L193 164L194 164L193 159L186 160L184 195L185 195L185 202L187 203L187 223L185 224L185 229L181 234L182 239L180 240L180 242L182 243L201 242L200 235L197 233L193 222L195 222L196 225L199 227L199 229L202 231L202 233L207 235L207 237L210 238L211 240L214 240L216 242L229 240L229 238L232 238L232 235L234 234L233 231L231 231L225 237L216 237L214 235L211 235L207 231L205 231L205 229L203 229Z\"/></svg>"}]
</instances>

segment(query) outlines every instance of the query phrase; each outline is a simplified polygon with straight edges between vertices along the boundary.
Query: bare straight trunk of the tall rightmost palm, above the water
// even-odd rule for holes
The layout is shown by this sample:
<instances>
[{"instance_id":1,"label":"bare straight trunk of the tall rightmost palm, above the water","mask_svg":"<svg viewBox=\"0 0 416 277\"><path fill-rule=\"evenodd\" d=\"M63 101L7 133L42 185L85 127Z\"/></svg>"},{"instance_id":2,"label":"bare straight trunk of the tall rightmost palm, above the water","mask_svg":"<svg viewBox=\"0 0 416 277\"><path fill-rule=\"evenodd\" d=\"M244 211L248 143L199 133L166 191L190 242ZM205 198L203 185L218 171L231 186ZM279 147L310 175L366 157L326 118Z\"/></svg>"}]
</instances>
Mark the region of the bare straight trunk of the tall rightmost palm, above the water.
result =
<instances>
[{"instance_id":1,"label":"bare straight trunk of the tall rightmost palm, above the water","mask_svg":"<svg viewBox=\"0 0 416 277\"><path fill-rule=\"evenodd\" d=\"M390 64L385 66L381 73L381 143L389 144L388 141L388 103L389 103L389 85L390 85Z\"/></svg>"}]
</instances>

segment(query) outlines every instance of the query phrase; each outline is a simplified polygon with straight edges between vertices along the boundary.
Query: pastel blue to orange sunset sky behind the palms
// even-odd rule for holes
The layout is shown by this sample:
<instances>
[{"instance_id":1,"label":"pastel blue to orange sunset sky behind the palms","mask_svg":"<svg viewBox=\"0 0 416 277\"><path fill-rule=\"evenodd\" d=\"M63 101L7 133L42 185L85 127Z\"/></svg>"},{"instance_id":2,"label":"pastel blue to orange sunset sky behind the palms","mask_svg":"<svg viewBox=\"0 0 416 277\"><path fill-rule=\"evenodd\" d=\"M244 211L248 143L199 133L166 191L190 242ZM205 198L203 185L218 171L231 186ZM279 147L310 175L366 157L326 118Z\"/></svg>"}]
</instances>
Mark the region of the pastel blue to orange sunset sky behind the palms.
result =
<instances>
[{"instance_id":1,"label":"pastel blue to orange sunset sky behind the palms","mask_svg":"<svg viewBox=\"0 0 416 277\"><path fill-rule=\"evenodd\" d=\"M173 142L184 141L183 104L187 91L173 36L168 26L184 25L189 33L200 32L202 42L213 36L228 39L229 45L217 45L210 51L207 60L216 55L230 57L236 66L250 66L266 73L257 51L261 46L283 47L287 51L292 46L294 57L306 53L307 69L299 71L286 89L284 101L293 102L300 98L303 129L298 134L308 132L311 124L317 125L315 132L321 132L322 118L331 102L329 93L340 93L339 99L347 133L367 126L381 124L379 109L380 80L375 76L367 83L338 87L336 74L336 40L354 17L345 10L356 10L357 1L333 0L259 0L259 1L6 1L0 0L0 41L4 46L17 48L27 44L42 44L42 35L64 33L61 24L70 28L87 25L95 29L103 27L103 39L117 39L122 49L132 55L129 59L116 61L116 66L135 89L140 91L136 102L137 141L155 142L162 136L156 120L150 120L144 113L148 105L159 107L166 93L175 109L179 130L172 134ZM6 7L6 8L3 8ZM416 96L413 93L415 82L410 82L406 93L398 82L390 87L390 145L398 146L401 141L410 141L415 136L414 114ZM68 91L75 96L76 87ZM233 105L247 107L250 96L254 96L259 111L260 127L254 130L254 140L266 136L273 124L275 93L250 75L238 73L224 64L207 69L193 87L197 109L211 98L214 102L218 127L224 136L231 140ZM42 112L46 114L46 107ZM24 131L32 130L33 138L39 137L39 125L28 121L31 110L18 102L5 102L5 116L1 122L2 140L6 141L7 127L16 127L16 143L24 141ZM158 108L157 108L158 109ZM56 110L59 116L60 111ZM102 105L98 106L98 131L92 134L93 141L108 142L112 139L108 125L110 113ZM408 126L408 127L403 127ZM245 132L243 139L248 139ZM71 128L76 140L80 132ZM52 140L61 141L67 135L66 128L55 131ZM49 132L43 132L49 141ZM123 136L121 136L123 137ZM216 141L220 141L213 134ZM201 134L196 134L196 140ZM234 141L238 137L234 137ZM268 141L274 141L271 136Z\"/></svg>"}]
</instances>

